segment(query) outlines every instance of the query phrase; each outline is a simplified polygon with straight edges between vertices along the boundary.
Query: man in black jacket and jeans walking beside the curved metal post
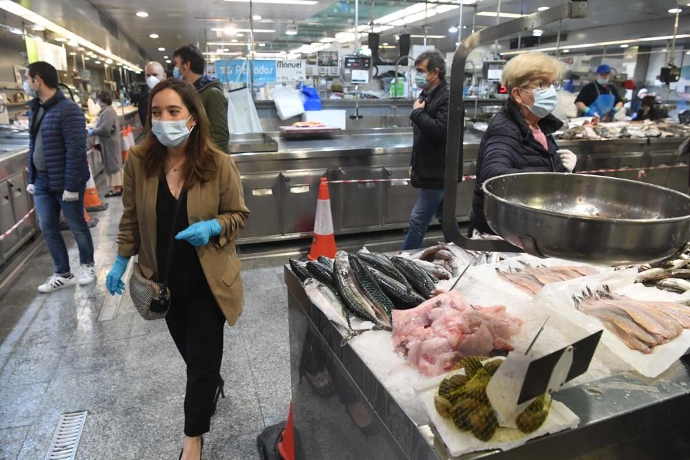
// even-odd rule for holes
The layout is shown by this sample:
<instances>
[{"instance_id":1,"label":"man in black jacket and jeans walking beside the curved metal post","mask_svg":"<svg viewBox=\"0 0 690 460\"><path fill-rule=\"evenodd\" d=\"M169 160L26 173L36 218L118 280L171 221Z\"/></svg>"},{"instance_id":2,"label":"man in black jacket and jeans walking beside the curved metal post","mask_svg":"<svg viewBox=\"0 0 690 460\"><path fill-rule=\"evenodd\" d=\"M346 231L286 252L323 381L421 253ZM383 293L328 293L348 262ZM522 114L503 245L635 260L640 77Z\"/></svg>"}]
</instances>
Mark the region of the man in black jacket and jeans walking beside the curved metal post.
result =
<instances>
[{"instance_id":1,"label":"man in black jacket and jeans walking beside the curved metal post","mask_svg":"<svg viewBox=\"0 0 690 460\"><path fill-rule=\"evenodd\" d=\"M422 89L422 94L415 101L410 114L415 133L410 178L412 186L420 189L420 197L410 214L410 228L402 245L403 250L422 246L431 219L435 215L441 220L443 209L450 96L445 81L446 62L440 52L426 51L415 60L415 70L415 83Z\"/></svg>"}]
</instances>

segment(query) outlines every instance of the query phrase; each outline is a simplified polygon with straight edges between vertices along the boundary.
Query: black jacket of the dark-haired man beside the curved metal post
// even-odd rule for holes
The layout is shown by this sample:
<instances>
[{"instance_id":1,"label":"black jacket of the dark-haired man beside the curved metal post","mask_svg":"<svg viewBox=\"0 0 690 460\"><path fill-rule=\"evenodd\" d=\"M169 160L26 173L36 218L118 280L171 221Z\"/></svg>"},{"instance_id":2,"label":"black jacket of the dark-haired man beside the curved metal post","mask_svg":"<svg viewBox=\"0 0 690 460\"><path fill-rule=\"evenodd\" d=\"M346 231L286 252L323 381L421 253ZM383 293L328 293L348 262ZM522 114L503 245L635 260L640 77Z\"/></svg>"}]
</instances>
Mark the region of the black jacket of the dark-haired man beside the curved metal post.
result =
<instances>
[{"instance_id":1,"label":"black jacket of the dark-haired man beside the curved metal post","mask_svg":"<svg viewBox=\"0 0 690 460\"><path fill-rule=\"evenodd\" d=\"M448 86L442 83L428 94L422 92L420 99L426 101L426 107L410 114L415 132L410 161L413 187L443 187L449 97Z\"/></svg>"}]
</instances>

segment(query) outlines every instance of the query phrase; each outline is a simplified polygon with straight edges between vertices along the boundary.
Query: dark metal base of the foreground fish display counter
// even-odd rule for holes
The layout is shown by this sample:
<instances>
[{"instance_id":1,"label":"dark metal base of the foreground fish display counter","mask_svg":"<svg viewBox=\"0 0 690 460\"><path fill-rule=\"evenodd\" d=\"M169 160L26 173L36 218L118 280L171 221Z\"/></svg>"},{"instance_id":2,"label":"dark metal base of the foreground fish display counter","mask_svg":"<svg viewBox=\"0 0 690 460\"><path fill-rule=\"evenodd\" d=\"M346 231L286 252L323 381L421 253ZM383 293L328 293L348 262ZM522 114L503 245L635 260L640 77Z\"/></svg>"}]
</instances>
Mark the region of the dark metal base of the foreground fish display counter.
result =
<instances>
[{"instance_id":1,"label":"dark metal base of the foreground fish display counter","mask_svg":"<svg viewBox=\"0 0 690 460\"><path fill-rule=\"evenodd\" d=\"M417 424L284 270L297 459L449 459L433 426ZM311 375L311 377L310 377ZM308 379L322 376L330 394ZM325 377L324 377L325 376ZM690 457L690 357L657 379L624 372L556 394L580 425L508 452L462 459L681 459Z\"/></svg>"}]
</instances>

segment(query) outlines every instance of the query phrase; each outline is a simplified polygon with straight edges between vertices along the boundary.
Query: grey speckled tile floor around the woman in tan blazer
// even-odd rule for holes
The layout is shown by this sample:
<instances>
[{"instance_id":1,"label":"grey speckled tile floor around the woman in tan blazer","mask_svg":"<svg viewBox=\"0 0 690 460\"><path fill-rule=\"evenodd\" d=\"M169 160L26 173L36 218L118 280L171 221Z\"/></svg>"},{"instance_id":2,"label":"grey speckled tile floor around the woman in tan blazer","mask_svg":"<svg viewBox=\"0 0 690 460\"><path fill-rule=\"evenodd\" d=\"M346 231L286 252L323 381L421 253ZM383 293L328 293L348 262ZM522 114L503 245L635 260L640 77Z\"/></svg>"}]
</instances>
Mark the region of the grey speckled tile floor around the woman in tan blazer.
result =
<instances>
[{"instance_id":1,"label":"grey speckled tile floor around the woman in tan blazer","mask_svg":"<svg viewBox=\"0 0 690 460\"><path fill-rule=\"evenodd\" d=\"M102 197L101 192L101 197ZM78 459L176 459L183 439L184 363L164 321L144 321L128 295L99 321L121 211L93 213L96 272L86 287L38 294L52 272L45 248L0 299L0 459L42 459L59 415L88 410ZM70 258L78 252L69 232ZM70 241L71 240L71 241ZM255 459L256 437L290 403L281 259L244 263L245 310L225 329L221 399L205 459Z\"/></svg>"}]
</instances>

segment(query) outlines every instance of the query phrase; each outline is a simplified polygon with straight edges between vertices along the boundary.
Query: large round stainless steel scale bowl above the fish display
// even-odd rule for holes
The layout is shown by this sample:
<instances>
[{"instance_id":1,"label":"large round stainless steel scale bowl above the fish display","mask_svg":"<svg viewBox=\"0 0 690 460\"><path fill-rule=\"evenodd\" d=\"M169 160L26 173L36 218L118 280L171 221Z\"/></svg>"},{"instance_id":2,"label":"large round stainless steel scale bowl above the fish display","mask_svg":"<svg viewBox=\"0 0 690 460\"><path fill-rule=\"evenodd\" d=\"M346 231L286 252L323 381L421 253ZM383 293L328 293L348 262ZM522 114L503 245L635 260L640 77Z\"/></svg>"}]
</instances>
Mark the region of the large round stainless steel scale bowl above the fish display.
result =
<instances>
[{"instance_id":1,"label":"large round stainless steel scale bowl above the fish display","mask_svg":"<svg viewBox=\"0 0 690 460\"><path fill-rule=\"evenodd\" d=\"M483 188L489 226L535 256L648 263L690 240L690 197L649 183L529 172L493 177Z\"/></svg>"}]
</instances>

